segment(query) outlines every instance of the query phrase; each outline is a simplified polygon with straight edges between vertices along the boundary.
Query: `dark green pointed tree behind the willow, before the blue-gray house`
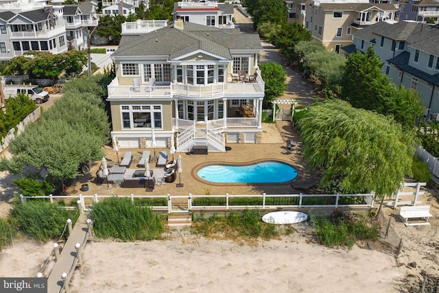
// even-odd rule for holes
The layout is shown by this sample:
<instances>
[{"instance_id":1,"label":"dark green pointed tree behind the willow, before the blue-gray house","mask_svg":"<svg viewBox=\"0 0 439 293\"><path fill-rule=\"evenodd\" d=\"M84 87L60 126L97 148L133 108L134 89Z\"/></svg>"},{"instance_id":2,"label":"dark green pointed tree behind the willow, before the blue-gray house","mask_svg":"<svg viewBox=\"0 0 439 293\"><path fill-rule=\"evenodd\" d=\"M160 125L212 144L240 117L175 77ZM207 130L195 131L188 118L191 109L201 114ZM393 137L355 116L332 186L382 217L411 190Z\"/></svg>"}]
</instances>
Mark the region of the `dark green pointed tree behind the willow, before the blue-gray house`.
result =
<instances>
[{"instance_id":1,"label":"dark green pointed tree behind the willow, before the blue-gray house","mask_svg":"<svg viewBox=\"0 0 439 293\"><path fill-rule=\"evenodd\" d=\"M383 75L383 62L370 46L365 54L351 54L346 60L340 82L340 98L355 108L383 113L383 104L393 93L393 84Z\"/></svg>"}]
</instances>

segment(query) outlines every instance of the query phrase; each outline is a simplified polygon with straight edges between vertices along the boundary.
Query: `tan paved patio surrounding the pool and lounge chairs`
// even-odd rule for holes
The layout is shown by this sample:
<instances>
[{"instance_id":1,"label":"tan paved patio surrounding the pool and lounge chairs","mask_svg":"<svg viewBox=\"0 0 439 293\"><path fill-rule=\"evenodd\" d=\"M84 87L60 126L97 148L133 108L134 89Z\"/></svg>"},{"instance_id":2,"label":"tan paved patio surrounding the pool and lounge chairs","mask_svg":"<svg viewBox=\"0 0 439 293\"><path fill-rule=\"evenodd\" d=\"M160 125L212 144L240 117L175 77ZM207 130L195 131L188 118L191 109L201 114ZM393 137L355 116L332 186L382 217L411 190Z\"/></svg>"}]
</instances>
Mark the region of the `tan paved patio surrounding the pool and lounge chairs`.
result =
<instances>
[{"instance_id":1,"label":"tan paved patio surrounding the pool and lounge chairs","mask_svg":"<svg viewBox=\"0 0 439 293\"><path fill-rule=\"evenodd\" d=\"M276 133L277 132L277 133ZM193 195L204 195L205 189L210 189L210 194L220 195L220 194L232 194L232 195L242 195L242 194L299 194L303 192L304 189L316 185L318 183L317 176L307 173L307 170L302 165L302 156L298 152L290 152L285 146L285 141L291 139L292 141L298 141L296 132L292 129L289 121L276 121L274 126L264 128L263 132L263 143L250 144L250 143L230 143L231 150L227 152L209 152L209 154L186 154L186 153L176 153L174 158L176 159L178 154L182 156L182 173L181 173L181 183L183 187L176 187L179 183L178 174L176 181L174 183L165 183L163 185L156 185L153 191L145 191L143 188L124 188L124 187L112 187L108 189L106 183L98 185L95 182L95 177L97 169L101 164L101 161L95 161L91 165L90 173L87 175L80 175L75 181L75 184L69 187L66 191L67 195L78 195L82 194L84 196L97 194L102 195L117 195L117 196L129 196L134 194L138 195L154 195L154 196L166 196L170 194L171 196L189 196ZM268 141L268 143L265 143ZM123 152L126 150L132 151L132 156L141 156L143 149L119 149L119 161ZM166 150L168 153L168 161L172 161L172 155L169 154L169 150L156 148L156 154L159 151ZM154 150L150 149L151 156L154 155ZM110 147L104 148L106 159L109 162L117 163L116 152ZM207 182L202 182L202 180L194 177L195 172L199 169L201 165L206 163L233 163L233 164L244 164L244 163L254 163L257 161L282 161L289 163L296 168L298 176L292 180L291 183L296 188L293 188L289 183L274 183L274 184L229 184L229 185L219 185L211 184ZM132 161L130 165L131 169L144 169L142 167L137 167L135 160ZM155 163L150 163L150 169L163 169L155 166ZM81 191L81 186L86 183L88 184L88 191Z\"/></svg>"}]
</instances>

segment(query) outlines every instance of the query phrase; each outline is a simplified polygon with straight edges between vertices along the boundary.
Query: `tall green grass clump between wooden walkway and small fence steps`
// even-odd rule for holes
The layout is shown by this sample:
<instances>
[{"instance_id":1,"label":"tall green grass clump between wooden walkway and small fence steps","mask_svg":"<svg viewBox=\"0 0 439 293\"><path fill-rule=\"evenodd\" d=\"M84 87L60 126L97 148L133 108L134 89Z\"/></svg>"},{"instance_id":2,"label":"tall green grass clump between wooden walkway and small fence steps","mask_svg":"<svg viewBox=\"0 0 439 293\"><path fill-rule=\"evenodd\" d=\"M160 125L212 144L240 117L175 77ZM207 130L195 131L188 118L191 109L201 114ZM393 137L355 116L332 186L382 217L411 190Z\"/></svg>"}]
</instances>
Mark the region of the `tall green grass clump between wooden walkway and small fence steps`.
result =
<instances>
[{"instance_id":1,"label":"tall green grass clump between wooden walkway and small fence steps","mask_svg":"<svg viewBox=\"0 0 439 293\"><path fill-rule=\"evenodd\" d=\"M132 203L130 198L107 198L93 204L91 216L98 237L115 237L123 241L159 239L163 223L152 209Z\"/></svg>"}]
</instances>

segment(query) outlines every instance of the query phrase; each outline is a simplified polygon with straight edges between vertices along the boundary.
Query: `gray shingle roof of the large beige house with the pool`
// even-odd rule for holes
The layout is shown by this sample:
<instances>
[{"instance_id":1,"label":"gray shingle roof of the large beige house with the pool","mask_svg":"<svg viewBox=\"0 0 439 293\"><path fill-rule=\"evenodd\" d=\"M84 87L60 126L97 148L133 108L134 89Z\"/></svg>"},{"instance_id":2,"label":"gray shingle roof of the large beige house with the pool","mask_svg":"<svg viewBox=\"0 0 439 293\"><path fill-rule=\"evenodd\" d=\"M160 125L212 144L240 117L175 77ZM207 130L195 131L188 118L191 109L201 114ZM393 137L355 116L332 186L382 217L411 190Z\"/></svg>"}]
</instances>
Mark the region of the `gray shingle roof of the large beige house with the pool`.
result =
<instances>
[{"instance_id":1,"label":"gray shingle roof of the large beige house with the pool","mask_svg":"<svg viewBox=\"0 0 439 293\"><path fill-rule=\"evenodd\" d=\"M258 34L220 30L196 23L183 23L184 29L163 27L140 36L122 36L113 56L169 56L169 59L203 50L231 58L230 49L261 50Z\"/></svg>"}]
</instances>

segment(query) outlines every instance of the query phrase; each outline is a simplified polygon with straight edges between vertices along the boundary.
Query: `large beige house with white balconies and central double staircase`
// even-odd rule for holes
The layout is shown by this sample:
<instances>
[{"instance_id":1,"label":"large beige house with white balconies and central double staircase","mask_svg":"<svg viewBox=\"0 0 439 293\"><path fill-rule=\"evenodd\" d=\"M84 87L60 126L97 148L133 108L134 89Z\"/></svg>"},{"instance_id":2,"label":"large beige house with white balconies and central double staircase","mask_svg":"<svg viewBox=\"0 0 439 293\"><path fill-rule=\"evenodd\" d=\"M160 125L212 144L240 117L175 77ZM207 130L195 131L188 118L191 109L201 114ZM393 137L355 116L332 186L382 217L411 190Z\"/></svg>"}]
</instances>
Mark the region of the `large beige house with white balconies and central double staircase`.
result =
<instances>
[{"instance_id":1,"label":"large beige house with white balconies and central double staircase","mask_svg":"<svg viewBox=\"0 0 439 293\"><path fill-rule=\"evenodd\" d=\"M153 135L159 148L169 148L175 137L178 152L194 145L225 152L226 142L259 143L261 49L258 34L183 21L147 34L122 34L112 54L117 77L107 98L119 147L151 148Z\"/></svg>"}]
</instances>

